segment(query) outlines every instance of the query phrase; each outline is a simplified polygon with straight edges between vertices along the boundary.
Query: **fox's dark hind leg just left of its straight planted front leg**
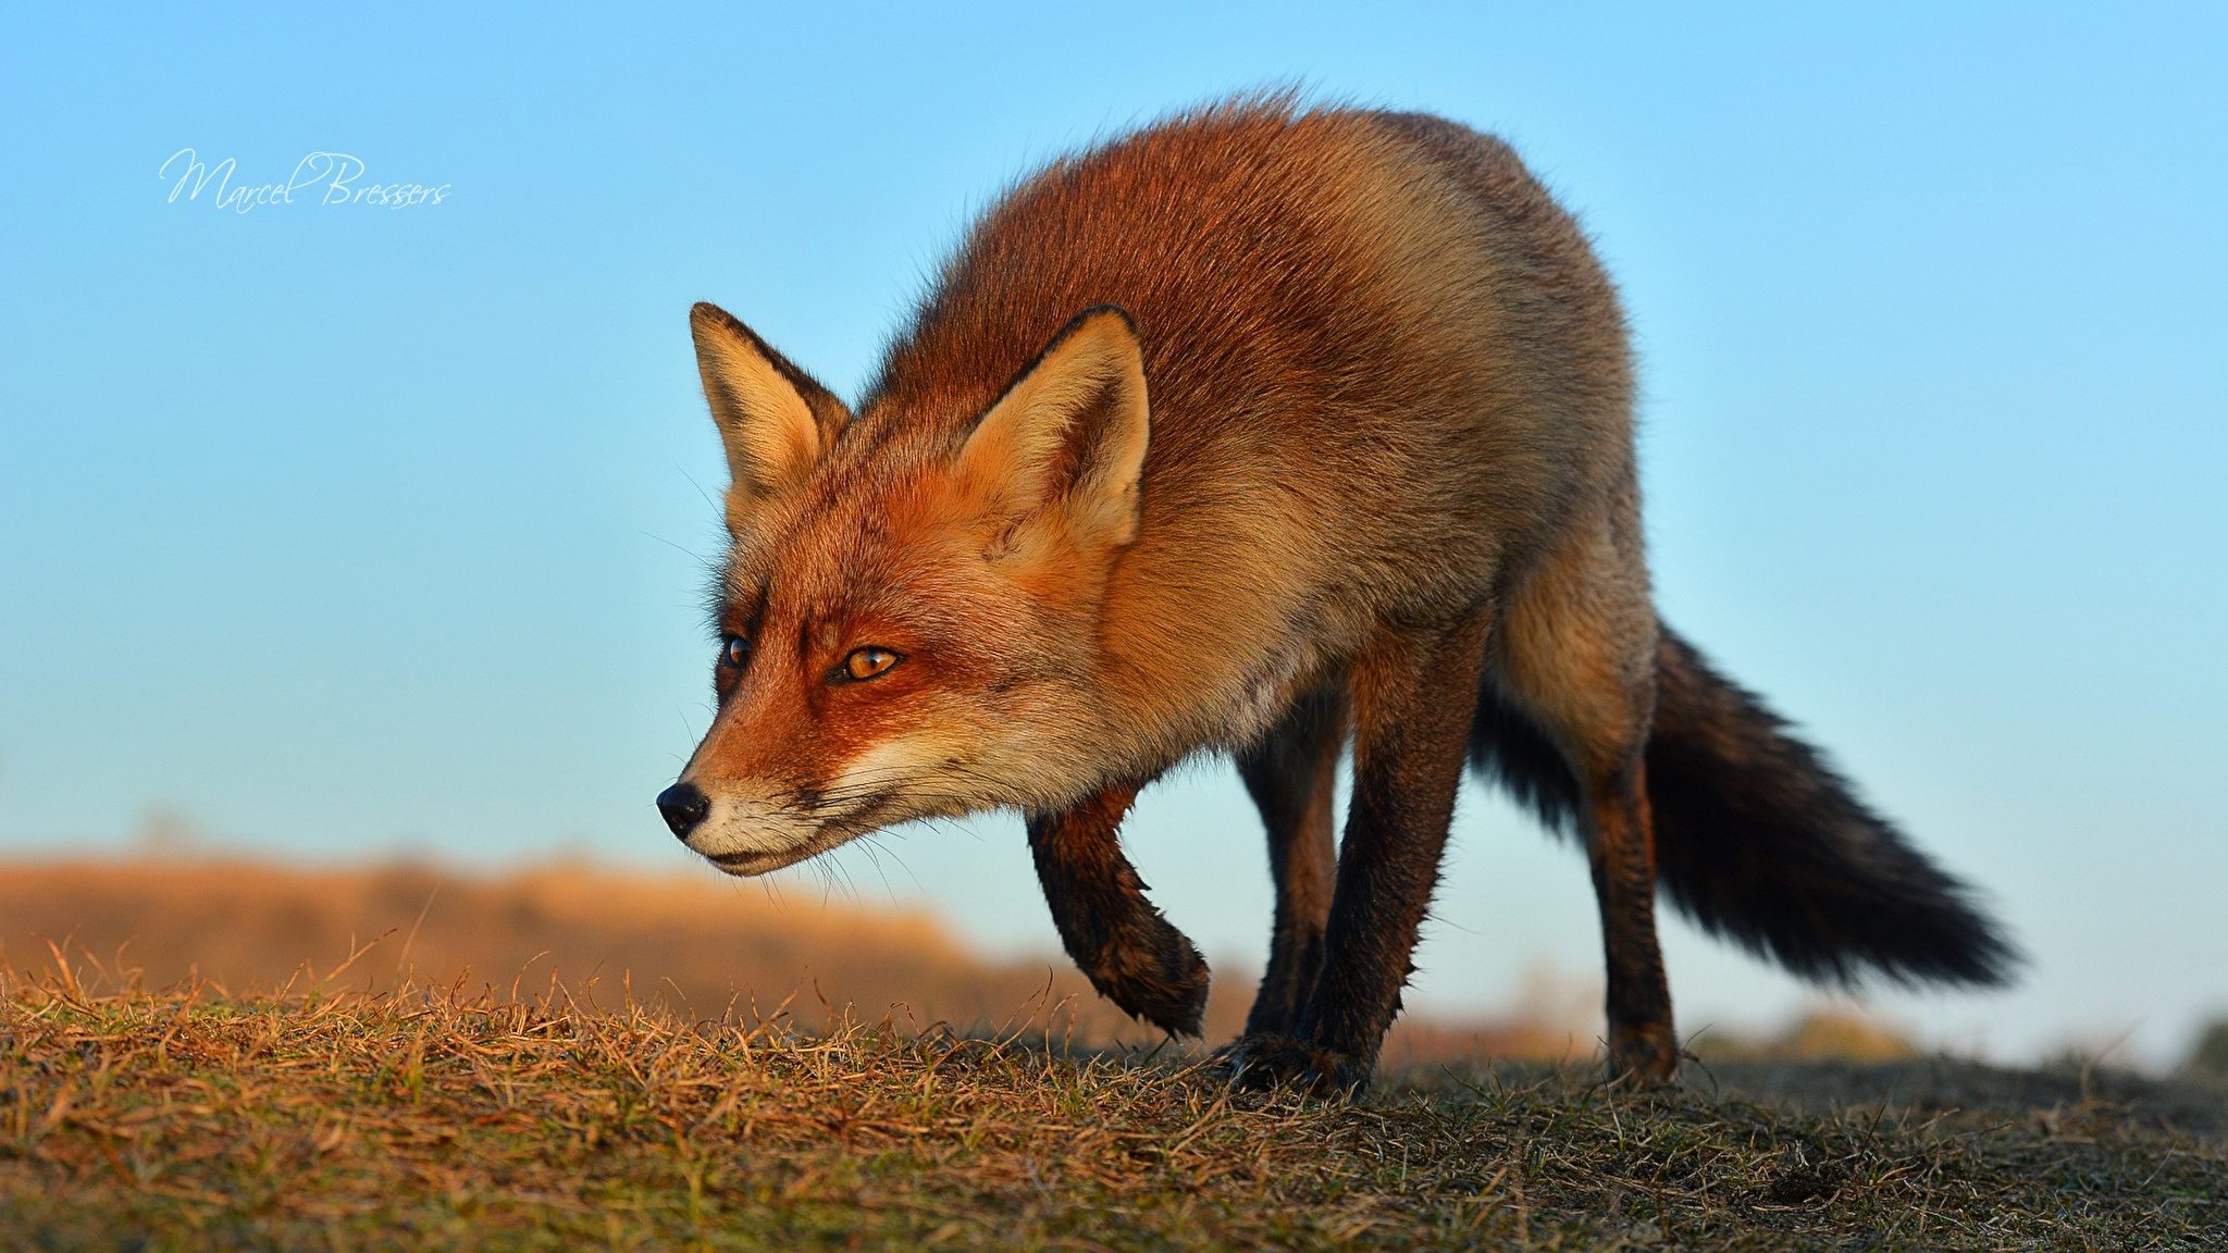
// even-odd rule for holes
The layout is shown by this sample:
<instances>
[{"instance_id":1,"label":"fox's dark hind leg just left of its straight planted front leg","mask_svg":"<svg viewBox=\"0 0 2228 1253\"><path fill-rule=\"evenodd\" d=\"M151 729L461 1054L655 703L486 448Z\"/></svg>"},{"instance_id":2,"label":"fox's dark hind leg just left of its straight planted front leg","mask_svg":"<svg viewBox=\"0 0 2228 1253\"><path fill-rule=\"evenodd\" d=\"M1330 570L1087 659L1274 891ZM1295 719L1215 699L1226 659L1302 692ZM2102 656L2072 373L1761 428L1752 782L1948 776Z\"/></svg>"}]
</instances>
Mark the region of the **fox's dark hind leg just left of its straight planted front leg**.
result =
<instances>
[{"instance_id":1,"label":"fox's dark hind leg just left of its straight planted front leg","mask_svg":"<svg viewBox=\"0 0 2228 1253\"><path fill-rule=\"evenodd\" d=\"M1268 972L1245 1017L1248 1032L1288 1032L1323 968L1323 927L1337 876L1332 807L1339 751L1346 747L1346 687L1323 684L1292 705L1277 727L1239 754L1239 778L1268 827L1277 883L1277 923Z\"/></svg>"}]
</instances>

